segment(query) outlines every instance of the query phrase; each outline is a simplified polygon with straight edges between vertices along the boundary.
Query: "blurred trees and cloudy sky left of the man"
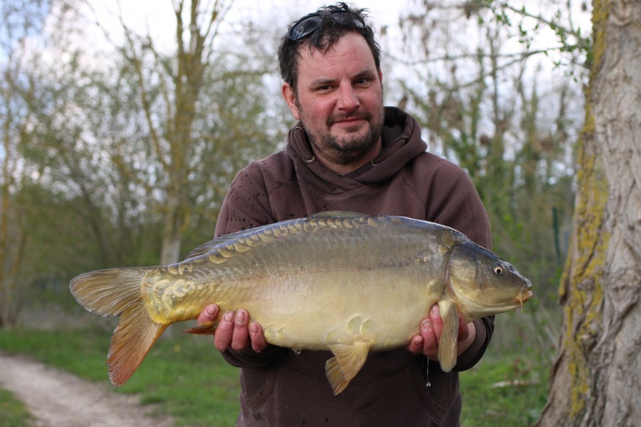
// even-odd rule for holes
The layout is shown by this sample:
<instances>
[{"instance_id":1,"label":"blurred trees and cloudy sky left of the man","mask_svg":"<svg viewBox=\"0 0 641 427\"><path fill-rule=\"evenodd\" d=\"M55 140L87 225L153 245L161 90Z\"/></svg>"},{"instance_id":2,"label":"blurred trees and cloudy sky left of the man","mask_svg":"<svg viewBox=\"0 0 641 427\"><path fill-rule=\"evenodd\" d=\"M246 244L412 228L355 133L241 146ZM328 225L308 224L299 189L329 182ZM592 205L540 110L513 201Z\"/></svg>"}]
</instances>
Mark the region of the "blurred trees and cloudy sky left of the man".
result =
<instances>
[{"instance_id":1,"label":"blurred trees and cloudy sky left of the man","mask_svg":"<svg viewBox=\"0 0 641 427\"><path fill-rule=\"evenodd\" d=\"M222 34L229 2L169 3L172 47L123 16L107 28L84 1L2 5L0 325L13 325L33 286L177 262L212 238L234 174L288 126L264 84L269 33Z\"/></svg>"}]
</instances>

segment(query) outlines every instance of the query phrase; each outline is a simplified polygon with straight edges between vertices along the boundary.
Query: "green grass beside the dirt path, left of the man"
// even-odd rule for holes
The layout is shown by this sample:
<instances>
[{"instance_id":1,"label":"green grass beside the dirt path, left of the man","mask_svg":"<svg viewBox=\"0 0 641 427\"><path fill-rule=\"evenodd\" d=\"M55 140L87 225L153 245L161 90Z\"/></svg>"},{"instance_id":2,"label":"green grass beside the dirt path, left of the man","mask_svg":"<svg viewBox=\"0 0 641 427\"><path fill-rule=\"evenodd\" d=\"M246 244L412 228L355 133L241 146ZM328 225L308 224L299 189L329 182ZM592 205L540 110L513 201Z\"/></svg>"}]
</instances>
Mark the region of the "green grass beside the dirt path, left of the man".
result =
<instances>
[{"instance_id":1,"label":"green grass beside the dirt path, left of the man","mask_svg":"<svg viewBox=\"0 0 641 427\"><path fill-rule=\"evenodd\" d=\"M0 330L0 349L30 354L90 381L108 382L110 332ZM174 417L176 426L234 426L239 411L238 370L214 349L212 339L175 332L161 338L118 393L139 394L142 404ZM0 424L1 426L1 424Z\"/></svg>"}]
</instances>

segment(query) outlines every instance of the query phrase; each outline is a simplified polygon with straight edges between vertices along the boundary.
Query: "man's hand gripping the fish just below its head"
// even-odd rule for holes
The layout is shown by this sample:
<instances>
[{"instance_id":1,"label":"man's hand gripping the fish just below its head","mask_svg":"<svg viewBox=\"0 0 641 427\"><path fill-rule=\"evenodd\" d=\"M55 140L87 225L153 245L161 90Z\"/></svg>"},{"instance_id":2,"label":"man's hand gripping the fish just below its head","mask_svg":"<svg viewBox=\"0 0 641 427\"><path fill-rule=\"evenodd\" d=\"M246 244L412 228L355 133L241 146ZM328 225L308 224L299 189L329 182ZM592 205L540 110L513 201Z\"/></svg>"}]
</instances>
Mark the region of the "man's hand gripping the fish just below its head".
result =
<instances>
[{"instance_id":1,"label":"man's hand gripping the fish just below its head","mask_svg":"<svg viewBox=\"0 0 641 427\"><path fill-rule=\"evenodd\" d=\"M443 320L439 313L439 306L432 305L429 310L429 317L421 323L421 333L416 335L407 345L407 350L412 354L424 354L432 360L438 360L439 341L443 332ZM474 322L466 323L459 314L459 344L457 355L469 349L476 339L476 327Z\"/></svg>"}]
</instances>

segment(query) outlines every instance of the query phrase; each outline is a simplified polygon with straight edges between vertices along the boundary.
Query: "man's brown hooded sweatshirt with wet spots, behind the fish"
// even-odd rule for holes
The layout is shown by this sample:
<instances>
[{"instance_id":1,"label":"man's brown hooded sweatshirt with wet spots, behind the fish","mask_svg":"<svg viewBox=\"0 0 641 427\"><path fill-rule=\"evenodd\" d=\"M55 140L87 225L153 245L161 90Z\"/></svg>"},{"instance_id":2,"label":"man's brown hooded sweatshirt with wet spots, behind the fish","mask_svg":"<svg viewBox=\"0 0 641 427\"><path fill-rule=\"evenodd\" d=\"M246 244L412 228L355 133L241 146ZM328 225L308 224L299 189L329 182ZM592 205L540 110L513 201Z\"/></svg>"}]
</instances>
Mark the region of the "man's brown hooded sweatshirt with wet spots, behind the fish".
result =
<instances>
[{"instance_id":1,"label":"man's brown hooded sweatshirt with wet spots, behind the fish","mask_svg":"<svg viewBox=\"0 0 641 427\"><path fill-rule=\"evenodd\" d=\"M337 174L314 159L298 123L286 150L241 170L231 184L216 227L217 236L323 211L408 216L455 228L491 249L488 218L467 174L426 152L417 121L385 108L382 149L369 164ZM402 310L402 307L399 307ZM425 315L429 307L425 307ZM251 313L249 313L251 317ZM494 318L475 321L476 341L449 373L405 348L372 352L363 369L338 396L325 377L330 352L269 345L223 353L241 368L238 426L458 426L461 411L457 371L479 361L494 330ZM418 331L417 331L418 333Z\"/></svg>"}]
</instances>

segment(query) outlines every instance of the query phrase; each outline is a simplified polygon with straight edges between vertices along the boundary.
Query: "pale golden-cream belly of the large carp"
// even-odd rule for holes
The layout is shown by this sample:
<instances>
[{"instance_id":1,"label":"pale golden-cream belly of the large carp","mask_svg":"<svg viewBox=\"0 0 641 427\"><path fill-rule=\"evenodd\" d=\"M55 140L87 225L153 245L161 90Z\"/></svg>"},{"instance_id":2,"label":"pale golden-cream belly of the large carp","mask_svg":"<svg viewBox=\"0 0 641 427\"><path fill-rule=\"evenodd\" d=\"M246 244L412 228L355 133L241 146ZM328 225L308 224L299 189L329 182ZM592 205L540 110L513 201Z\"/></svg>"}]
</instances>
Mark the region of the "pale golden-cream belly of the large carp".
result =
<instances>
[{"instance_id":1,"label":"pale golden-cream belly of the large carp","mask_svg":"<svg viewBox=\"0 0 641 427\"><path fill-rule=\"evenodd\" d=\"M260 290L255 286L217 303L224 310L247 310L267 342L281 347L324 350L368 342L372 350L392 349L417 334L437 301L428 285L397 270L317 271L270 278Z\"/></svg>"}]
</instances>

